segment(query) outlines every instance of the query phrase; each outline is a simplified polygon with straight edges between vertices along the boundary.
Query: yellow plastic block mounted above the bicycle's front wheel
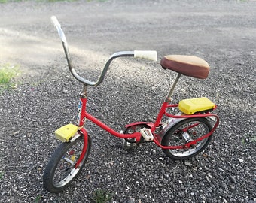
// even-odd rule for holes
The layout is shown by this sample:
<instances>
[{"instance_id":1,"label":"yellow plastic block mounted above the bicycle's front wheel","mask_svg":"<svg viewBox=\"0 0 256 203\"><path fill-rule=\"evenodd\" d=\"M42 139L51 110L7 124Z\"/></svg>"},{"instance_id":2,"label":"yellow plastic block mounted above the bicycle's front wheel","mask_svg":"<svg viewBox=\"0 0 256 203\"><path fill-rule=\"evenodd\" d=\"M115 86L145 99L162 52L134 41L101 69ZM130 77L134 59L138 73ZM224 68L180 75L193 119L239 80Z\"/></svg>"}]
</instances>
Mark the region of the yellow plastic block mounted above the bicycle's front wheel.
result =
<instances>
[{"instance_id":1,"label":"yellow plastic block mounted above the bicycle's front wheel","mask_svg":"<svg viewBox=\"0 0 256 203\"><path fill-rule=\"evenodd\" d=\"M78 126L75 126L72 123L69 123L65 126L56 129L55 136L62 142L68 142L70 138L72 138L76 132L78 132Z\"/></svg>"}]
</instances>

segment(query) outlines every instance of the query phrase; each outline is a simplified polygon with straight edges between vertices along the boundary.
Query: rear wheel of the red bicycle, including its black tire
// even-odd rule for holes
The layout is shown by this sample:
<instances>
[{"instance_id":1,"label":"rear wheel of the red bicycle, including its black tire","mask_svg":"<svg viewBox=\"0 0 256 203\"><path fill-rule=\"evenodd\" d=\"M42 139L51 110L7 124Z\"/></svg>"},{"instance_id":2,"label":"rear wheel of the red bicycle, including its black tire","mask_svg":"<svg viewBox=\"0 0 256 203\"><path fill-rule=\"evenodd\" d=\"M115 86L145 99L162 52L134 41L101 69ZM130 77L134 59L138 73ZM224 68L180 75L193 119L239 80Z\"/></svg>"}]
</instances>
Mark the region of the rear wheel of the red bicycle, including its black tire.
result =
<instances>
[{"instance_id":1,"label":"rear wheel of the red bicycle, including its black tire","mask_svg":"<svg viewBox=\"0 0 256 203\"><path fill-rule=\"evenodd\" d=\"M212 126L209 123L209 120L206 118L188 118L185 120L181 120L181 122L175 124L166 135L164 135L162 140L163 146L178 146L184 145L187 141L184 138L184 132L181 129L185 129L187 126L191 126L193 124L197 124L197 126L191 127L187 129L186 133L189 135L191 141L196 140L197 138L206 135L208 132L212 130ZM196 156L198 153L202 152L209 142L212 140L212 135L203 139L202 141L198 141L196 145L187 149L181 150L164 150L163 152L166 156L169 156L172 159L189 159L192 156Z\"/></svg>"}]
</instances>

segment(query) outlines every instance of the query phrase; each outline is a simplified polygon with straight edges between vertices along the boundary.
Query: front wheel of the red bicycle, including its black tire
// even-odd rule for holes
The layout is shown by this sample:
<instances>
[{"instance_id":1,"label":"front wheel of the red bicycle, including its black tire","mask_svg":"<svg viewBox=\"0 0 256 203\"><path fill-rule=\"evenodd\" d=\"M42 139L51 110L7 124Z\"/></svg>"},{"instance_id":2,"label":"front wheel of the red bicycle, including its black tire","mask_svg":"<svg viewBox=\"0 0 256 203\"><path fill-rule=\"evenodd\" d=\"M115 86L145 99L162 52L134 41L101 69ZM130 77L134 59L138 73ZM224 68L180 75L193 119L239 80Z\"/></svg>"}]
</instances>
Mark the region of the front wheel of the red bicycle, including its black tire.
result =
<instances>
[{"instance_id":1,"label":"front wheel of the red bicycle, including its black tire","mask_svg":"<svg viewBox=\"0 0 256 203\"><path fill-rule=\"evenodd\" d=\"M52 193L61 192L78 177L89 156L91 143L91 138L88 135L87 151L79 168L75 168L75 163L81 155L84 146L84 136L81 135L73 142L59 144L44 171L43 183L47 191Z\"/></svg>"}]
</instances>

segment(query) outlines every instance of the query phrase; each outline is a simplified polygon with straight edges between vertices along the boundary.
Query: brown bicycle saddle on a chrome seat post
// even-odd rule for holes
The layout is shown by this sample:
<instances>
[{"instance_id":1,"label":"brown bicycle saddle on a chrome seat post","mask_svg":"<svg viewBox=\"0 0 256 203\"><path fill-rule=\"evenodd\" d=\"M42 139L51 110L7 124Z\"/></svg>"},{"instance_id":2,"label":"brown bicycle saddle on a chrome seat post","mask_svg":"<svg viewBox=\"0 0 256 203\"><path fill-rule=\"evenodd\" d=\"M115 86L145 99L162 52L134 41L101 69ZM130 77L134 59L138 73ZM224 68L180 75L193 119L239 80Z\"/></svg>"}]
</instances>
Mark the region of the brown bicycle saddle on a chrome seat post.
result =
<instances>
[{"instance_id":1,"label":"brown bicycle saddle on a chrome seat post","mask_svg":"<svg viewBox=\"0 0 256 203\"><path fill-rule=\"evenodd\" d=\"M210 71L209 64L197 56L168 55L161 59L160 65L164 69L167 68L180 74L199 79L208 77Z\"/></svg>"}]
</instances>

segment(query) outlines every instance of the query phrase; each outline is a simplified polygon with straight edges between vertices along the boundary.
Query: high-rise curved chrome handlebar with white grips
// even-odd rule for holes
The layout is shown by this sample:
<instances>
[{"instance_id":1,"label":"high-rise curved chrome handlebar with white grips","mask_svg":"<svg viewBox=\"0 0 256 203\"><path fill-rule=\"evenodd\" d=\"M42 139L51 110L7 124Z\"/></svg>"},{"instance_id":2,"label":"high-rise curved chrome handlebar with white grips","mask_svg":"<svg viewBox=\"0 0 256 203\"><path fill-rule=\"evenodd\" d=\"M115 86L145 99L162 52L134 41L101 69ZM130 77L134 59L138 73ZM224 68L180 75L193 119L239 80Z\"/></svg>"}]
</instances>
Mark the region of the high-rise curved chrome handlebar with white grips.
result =
<instances>
[{"instance_id":1,"label":"high-rise curved chrome handlebar with white grips","mask_svg":"<svg viewBox=\"0 0 256 203\"><path fill-rule=\"evenodd\" d=\"M108 71L109 65L111 64L112 60L115 58L122 57L122 56L133 56L133 57L140 58L140 59L149 59L149 60L157 61L157 52L156 51L135 50L135 51L117 52L117 53L112 54L109 57L108 61L105 63L105 66L102 70L102 74L99 76L99 79L96 82L86 80L86 79L84 79L84 77L81 77L73 68L72 59L69 54L69 45L66 41L66 36L61 28L59 20L57 20L57 18L55 16L51 17L50 19L51 19L53 25L56 27L56 30L59 34L59 38L61 38L62 46L63 46L64 52L66 55L66 59L67 59L68 65L69 65L69 71L71 71L71 73L75 77L75 79L77 79L79 82L84 83L86 85L98 86L100 83L102 83L102 81L104 80L105 74Z\"/></svg>"}]
</instances>

